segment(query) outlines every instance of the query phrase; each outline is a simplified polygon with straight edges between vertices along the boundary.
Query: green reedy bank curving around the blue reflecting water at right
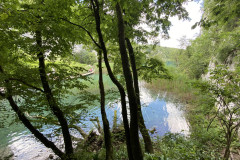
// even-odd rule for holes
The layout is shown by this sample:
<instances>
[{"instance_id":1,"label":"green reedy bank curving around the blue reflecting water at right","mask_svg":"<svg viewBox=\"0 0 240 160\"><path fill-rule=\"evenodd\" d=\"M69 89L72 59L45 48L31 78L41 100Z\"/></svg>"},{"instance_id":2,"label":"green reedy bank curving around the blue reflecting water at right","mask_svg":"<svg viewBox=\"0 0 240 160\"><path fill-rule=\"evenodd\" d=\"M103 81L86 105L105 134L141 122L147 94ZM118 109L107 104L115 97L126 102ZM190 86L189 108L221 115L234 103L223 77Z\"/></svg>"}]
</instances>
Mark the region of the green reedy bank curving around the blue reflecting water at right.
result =
<instances>
[{"instance_id":1,"label":"green reedy bank curving around the blue reflecting water at right","mask_svg":"<svg viewBox=\"0 0 240 160\"><path fill-rule=\"evenodd\" d=\"M164 92L166 97L171 97L175 103L182 102L185 105L186 118L190 124L189 137L171 134L164 136L158 141L161 149L155 155L164 154L170 159L181 159L175 157L174 154L179 157L183 156L182 159L221 159L223 157L225 137L221 124L216 118L214 119L215 100L201 92L200 89L193 87L193 82L196 81L190 80L184 75L175 74L171 81L157 79L146 84L146 87L151 88L155 94L159 91ZM233 143L232 154L238 153L239 145L237 143L237 141ZM188 145L191 147L189 148ZM171 151L164 151L165 147ZM179 150L180 148L189 150L183 152L183 150ZM186 154L188 154L187 157ZM236 154L232 157L236 159L239 155Z\"/></svg>"}]
</instances>

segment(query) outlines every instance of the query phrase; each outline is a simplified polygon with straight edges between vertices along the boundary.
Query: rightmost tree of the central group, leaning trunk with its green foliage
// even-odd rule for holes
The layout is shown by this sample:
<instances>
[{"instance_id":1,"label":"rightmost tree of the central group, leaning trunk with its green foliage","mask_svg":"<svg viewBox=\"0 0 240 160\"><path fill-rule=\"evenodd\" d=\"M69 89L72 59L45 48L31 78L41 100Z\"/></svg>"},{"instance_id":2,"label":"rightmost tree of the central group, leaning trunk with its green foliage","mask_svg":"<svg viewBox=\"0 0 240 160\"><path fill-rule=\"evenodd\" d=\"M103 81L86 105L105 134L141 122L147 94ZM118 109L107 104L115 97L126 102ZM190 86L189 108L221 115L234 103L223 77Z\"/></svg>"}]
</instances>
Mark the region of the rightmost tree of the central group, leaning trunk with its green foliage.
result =
<instances>
[{"instance_id":1,"label":"rightmost tree of the central group, leaning trunk with its green foliage","mask_svg":"<svg viewBox=\"0 0 240 160\"><path fill-rule=\"evenodd\" d=\"M169 29L169 26L171 23L169 22L168 17L163 17L163 18L161 17L163 14L163 11L160 8L165 8L165 12L169 12L168 16L173 16L179 13L180 14L182 13L184 15L185 10L182 8L181 3L179 4L171 3L171 4L168 4L168 6L165 6L164 3L157 1L156 5L152 7L148 6L149 1L145 1L143 3L135 2L134 5L132 5L132 3L134 2L122 3L122 6L127 8L127 9L125 8L123 9L125 26L122 26L122 27L126 27L126 30L127 30L126 33L124 34L126 36L125 39L127 42L127 48L128 48L128 53L129 53L130 62L131 62L132 76L134 80L134 92L136 95L136 102L138 105L139 128L144 139L145 151L148 153L153 153L152 142L151 142L148 130L144 124L144 119L141 112L140 92L139 92L139 86L138 86L138 73L137 73L138 71L136 68L136 61L135 61L135 55L133 52L133 47L128 37L131 37L131 38L134 37L134 38L137 38L139 41L144 42L148 36L154 37L158 35L157 32L160 30L160 25L161 25L162 32L165 35L167 35L167 30ZM178 6L179 13L177 12L174 13L174 11L176 11L174 10L176 6ZM152 15L152 12L156 13L157 17L159 18L158 20L156 19L155 15ZM135 28L137 28L137 25L143 22L142 17L140 16L141 14L146 14L146 22L145 22L146 24L150 24L150 25L153 24L151 25L151 27L154 29L151 32L142 31L141 29L134 29L134 26ZM186 18L186 17L183 16L182 18ZM120 27L119 27L119 30L120 30ZM123 49L121 48L120 50L123 51ZM121 53L124 53L124 52L121 52ZM127 57L127 55L125 55L124 57ZM163 67L163 64L160 61L156 59L151 59L151 58L146 61L145 66L141 66L139 69L141 70L139 72L142 75L143 79L148 81L156 77L161 77L163 74L167 73L166 69ZM147 70L147 71L145 72L144 70L145 71ZM124 69L123 69L123 73L124 73ZM165 78L169 78L168 74L166 74Z\"/></svg>"}]
</instances>

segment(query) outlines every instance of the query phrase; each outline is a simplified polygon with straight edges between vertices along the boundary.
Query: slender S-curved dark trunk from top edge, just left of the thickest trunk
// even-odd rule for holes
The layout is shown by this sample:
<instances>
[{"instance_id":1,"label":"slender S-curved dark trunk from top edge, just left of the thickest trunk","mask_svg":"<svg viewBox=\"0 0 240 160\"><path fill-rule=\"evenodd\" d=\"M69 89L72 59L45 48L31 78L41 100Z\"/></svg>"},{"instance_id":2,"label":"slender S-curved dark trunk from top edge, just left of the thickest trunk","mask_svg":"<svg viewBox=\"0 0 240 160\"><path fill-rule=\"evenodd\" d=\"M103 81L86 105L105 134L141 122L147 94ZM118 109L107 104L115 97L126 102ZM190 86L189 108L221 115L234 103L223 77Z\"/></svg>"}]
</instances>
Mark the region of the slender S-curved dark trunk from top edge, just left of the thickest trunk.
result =
<instances>
[{"instance_id":1,"label":"slender S-curved dark trunk from top edge, just left of the thickest trunk","mask_svg":"<svg viewBox=\"0 0 240 160\"><path fill-rule=\"evenodd\" d=\"M105 65L106 65L106 68L108 71L108 75L109 75L110 79L112 80L112 82L117 86L117 88L120 92L121 105L122 105L122 117L123 117L123 125L124 125L125 136L126 136L128 158L129 158L129 160L132 160L133 155L132 155L132 150L131 150L129 123L128 123L128 118L127 118L127 107L126 107L126 99L125 99L126 94L125 94L123 86L118 82L118 80L114 76L112 69L109 65L107 49L106 49L105 42L103 40L102 31L100 28L101 20L100 20L100 14L99 14L99 2L98 2L98 0L91 0L91 4L92 4L93 10L94 10L94 16L95 16L95 21L96 21L96 30L98 33L98 38L99 38L101 49L103 51L103 58L104 58L104 62L105 62Z\"/></svg>"}]
</instances>

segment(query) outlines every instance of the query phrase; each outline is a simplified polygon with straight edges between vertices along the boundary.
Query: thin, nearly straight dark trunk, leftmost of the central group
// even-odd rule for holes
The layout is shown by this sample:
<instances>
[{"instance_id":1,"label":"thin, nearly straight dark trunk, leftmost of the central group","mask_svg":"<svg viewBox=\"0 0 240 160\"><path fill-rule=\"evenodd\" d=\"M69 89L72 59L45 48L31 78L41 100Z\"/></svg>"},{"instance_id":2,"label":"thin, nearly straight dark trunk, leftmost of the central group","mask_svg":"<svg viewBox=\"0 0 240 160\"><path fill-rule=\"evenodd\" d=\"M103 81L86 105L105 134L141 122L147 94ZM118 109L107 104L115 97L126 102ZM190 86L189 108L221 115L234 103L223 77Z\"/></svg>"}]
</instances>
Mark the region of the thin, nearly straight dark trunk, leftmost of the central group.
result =
<instances>
[{"instance_id":1,"label":"thin, nearly straight dark trunk, leftmost of the central group","mask_svg":"<svg viewBox=\"0 0 240 160\"><path fill-rule=\"evenodd\" d=\"M98 67L99 67L99 90L101 96L101 115L103 121L103 131L104 131L104 140L106 147L106 160L113 159L113 147L112 147L112 138L109 127L109 122L107 119L107 115L105 112L105 92L104 92L104 84L103 84L103 73L102 73L102 52L98 52Z\"/></svg>"}]
</instances>

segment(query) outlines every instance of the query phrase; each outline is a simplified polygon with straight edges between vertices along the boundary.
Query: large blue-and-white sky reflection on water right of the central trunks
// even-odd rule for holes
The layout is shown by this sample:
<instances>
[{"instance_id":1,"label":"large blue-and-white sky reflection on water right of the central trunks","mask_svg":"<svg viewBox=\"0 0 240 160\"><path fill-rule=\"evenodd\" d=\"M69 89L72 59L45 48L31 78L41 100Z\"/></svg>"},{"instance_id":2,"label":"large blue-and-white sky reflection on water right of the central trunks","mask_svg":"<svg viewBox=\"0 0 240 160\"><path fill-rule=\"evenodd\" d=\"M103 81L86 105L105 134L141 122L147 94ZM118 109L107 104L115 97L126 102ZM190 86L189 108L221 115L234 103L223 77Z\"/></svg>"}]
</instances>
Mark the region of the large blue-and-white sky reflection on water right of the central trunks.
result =
<instances>
[{"instance_id":1,"label":"large blue-and-white sky reflection on water right of the central trunks","mask_svg":"<svg viewBox=\"0 0 240 160\"><path fill-rule=\"evenodd\" d=\"M167 94L160 92L157 86L141 82L142 112L150 131L162 136L166 132L188 133L189 127L181 111L182 103Z\"/></svg>"}]
</instances>

